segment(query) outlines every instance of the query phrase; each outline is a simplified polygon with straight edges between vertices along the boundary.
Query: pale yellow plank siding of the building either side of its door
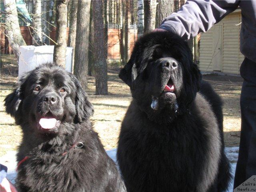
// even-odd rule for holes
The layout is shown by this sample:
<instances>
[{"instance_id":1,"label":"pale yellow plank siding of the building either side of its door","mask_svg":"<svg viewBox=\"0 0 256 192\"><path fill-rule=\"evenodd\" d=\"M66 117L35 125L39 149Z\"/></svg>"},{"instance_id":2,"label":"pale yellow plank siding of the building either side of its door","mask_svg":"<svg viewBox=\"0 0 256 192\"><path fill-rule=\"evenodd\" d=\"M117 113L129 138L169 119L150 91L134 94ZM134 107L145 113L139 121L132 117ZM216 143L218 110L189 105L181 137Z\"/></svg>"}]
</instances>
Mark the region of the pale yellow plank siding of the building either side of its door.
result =
<instances>
[{"instance_id":1,"label":"pale yellow plank siding of the building either side of its door","mask_svg":"<svg viewBox=\"0 0 256 192\"><path fill-rule=\"evenodd\" d=\"M200 39L200 64L199 68L203 72L214 72L214 28L218 25L222 30L222 37L218 38L222 42L220 60L221 72L227 74L239 74L239 68L244 56L240 52L240 29L241 12L234 12L226 16L216 26L213 26L208 32L201 34ZM216 31L215 31L216 32ZM215 39L214 39L215 37Z\"/></svg>"}]
</instances>

